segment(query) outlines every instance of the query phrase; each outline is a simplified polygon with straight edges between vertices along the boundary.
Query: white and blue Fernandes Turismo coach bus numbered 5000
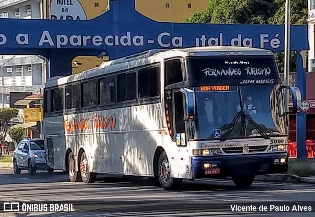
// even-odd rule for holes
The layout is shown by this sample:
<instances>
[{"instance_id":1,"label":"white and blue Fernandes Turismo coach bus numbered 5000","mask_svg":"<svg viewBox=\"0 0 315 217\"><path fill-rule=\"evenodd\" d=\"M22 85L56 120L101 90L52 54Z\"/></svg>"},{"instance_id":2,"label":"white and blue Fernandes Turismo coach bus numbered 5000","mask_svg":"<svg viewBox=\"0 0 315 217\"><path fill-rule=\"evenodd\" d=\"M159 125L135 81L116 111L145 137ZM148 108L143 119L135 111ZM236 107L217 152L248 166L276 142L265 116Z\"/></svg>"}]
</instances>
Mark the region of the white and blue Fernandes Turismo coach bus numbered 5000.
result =
<instances>
[{"instance_id":1,"label":"white and blue Fernandes Turismo coach bus numbered 5000","mask_svg":"<svg viewBox=\"0 0 315 217\"><path fill-rule=\"evenodd\" d=\"M293 108L285 111L284 90ZM51 78L44 93L48 165L71 182L97 174L183 179L286 172L287 115L274 55L244 47L149 50Z\"/></svg>"}]
</instances>

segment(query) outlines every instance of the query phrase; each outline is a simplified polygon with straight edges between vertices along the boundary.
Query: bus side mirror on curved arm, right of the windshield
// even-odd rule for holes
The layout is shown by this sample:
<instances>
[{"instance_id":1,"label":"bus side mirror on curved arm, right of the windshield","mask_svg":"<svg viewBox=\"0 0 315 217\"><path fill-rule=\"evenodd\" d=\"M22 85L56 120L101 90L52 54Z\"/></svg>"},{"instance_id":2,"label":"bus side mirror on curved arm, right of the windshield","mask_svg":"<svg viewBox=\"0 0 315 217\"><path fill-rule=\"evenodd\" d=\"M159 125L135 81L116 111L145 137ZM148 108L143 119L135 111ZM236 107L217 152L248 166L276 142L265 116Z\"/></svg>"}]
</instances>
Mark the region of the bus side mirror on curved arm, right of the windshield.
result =
<instances>
[{"instance_id":1,"label":"bus side mirror on curved arm, right of the windshield","mask_svg":"<svg viewBox=\"0 0 315 217\"><path fill-rule=\"evenodd\" d=\"M298 87L291 87L291 86L286 86L283 85L277 90L277 101L280 102L280 97L282 95L280 94L283 89L288 89L289 95L292 96L292 104L293 108L291 111L284 111L283 114L279 113L279 116L282 117L286 114L296 114L301 111L301 102L302 102L302 96L301 96L301 91ZM279 106L279 103L278 103ZM280 110L279 110L280 111Z\"/></svg>"}]
</instances>

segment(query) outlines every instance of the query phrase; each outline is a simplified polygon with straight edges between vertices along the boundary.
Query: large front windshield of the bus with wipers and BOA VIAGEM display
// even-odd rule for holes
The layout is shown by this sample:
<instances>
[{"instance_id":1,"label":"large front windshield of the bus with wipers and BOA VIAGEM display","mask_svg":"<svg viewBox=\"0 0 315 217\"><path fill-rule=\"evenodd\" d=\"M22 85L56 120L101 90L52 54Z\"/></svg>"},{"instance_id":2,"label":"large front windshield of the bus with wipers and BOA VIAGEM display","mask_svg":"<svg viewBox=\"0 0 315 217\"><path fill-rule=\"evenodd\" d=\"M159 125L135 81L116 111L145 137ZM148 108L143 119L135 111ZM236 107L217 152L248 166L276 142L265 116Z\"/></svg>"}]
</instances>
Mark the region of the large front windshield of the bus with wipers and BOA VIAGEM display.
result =
<instances>
[{"instance_id":1,"label":"large front windshield of the bus with wipers and BOA VIAGEM display","mask_svg":"<svg viewBox=\"0 0 315 217\"><path fill-rule=\"evenodd\" d=\"M285 119L275 109L279 85L208 87L196 90L195 139L225 141L285 135Z\"/></svg>"}]
</instances>

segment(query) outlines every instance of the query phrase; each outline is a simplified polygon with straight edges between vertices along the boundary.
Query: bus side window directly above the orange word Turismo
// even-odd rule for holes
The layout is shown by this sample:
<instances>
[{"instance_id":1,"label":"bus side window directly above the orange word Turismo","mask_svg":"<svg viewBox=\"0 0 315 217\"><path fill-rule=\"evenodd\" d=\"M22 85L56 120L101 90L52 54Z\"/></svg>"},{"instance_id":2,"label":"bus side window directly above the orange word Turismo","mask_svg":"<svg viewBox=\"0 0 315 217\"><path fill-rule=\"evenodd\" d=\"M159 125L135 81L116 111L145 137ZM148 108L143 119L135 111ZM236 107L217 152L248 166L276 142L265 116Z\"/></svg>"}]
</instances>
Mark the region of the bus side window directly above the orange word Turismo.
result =
<instances>
[{"instance_id":1,"label":"bus side window directly above the orange word Turismo","mask_svg":"<svg viewBox=\"0 0 315 217\"><path fill-rule=\"evenodd\" d=\"M112 105L115 104L116 96L115 76L108 76L99 79L98 91L99 100L98 105Z\"/></svg>"}]
</instances>

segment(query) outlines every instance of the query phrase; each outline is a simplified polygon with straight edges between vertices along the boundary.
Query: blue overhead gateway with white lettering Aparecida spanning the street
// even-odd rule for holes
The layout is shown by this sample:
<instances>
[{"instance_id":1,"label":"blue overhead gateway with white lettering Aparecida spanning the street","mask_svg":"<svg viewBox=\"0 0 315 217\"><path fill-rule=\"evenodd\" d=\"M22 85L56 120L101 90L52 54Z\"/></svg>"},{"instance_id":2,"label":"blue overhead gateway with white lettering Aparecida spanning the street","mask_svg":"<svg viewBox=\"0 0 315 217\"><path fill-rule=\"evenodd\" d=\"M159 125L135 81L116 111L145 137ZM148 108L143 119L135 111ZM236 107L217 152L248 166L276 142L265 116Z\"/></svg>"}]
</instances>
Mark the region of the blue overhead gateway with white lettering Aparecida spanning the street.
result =
<instances>
[{"instance_id":1,"label":"blue overhead gateway with white lettering Aparecida spanning the street","mask_svg":"<svg viewBox=\"0 0 315 217\"><path fill-rule=\"evenodd\" d=\"M0 19L0 54L41 55L49 60L47 77L71 75L72 60L83 55L105 54L115 59L149 49L201 46L284 51L284 25L157 22L137 12L134 0L110 0L109 7L100 16L88 14L84 6L80 9L80 0L53 2L56 5L52 20ZM66 17L67 12L73 15L77 9L79 17ZM305 100L306 73L299 54L309 49L307 26L292 25L290 29L290 49L297 52L296 85ZM305 125L305 113L299 113L297 142L298 153L302 155L305 155Z\"/></svg>"}]
</instances>

